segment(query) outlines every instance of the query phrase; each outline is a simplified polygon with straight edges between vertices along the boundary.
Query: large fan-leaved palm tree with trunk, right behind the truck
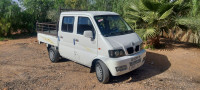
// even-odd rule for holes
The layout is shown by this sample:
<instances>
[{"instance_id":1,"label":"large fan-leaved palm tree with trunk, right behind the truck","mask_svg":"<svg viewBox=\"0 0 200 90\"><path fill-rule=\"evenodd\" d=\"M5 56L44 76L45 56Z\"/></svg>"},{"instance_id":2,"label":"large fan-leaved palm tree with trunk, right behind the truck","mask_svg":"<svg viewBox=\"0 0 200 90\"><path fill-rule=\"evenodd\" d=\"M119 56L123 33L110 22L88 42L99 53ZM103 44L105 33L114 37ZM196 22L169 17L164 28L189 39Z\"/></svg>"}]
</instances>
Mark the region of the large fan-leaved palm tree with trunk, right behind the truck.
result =
<instances>
[{"instance_id":1,"label":"large fan-leaved palm tree with trunk, right behind the truck","mask_svg":"<svg viewBox=\"0 0 200 90\"><path fill-rule=\"evenodd\" d=\"M159 46L161 28L168 27L175 5L182 0L133 0L125 12L126 20L139 29L143 40L150 40L150 44ZM136 24L137 23L137 24ZM142 30L142 31L141 31Z\"/></svg>"}]
</instances>

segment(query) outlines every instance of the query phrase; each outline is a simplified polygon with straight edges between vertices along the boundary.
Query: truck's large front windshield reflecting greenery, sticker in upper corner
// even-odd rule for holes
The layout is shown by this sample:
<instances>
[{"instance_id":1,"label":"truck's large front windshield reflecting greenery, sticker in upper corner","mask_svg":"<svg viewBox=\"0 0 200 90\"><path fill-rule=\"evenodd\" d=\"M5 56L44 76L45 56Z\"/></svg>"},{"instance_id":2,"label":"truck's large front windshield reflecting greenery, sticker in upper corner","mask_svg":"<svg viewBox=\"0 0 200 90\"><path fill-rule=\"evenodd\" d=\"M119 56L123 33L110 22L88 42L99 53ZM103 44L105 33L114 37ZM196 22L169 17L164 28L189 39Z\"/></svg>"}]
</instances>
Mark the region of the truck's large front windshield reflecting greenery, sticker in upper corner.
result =
<instances>
[{"instance_id":1,"label":"truck's large front windshield reflecting greenery, sticker in upper corner","mask_svg":"<svg viewBox=\"0 0 200 90\"><path fill-rule=\"evenodd\" d=\"M133 33L131 27L119 15L101 15L94 17L101 34L105 37Z\"/></svg>"}]
</instances>

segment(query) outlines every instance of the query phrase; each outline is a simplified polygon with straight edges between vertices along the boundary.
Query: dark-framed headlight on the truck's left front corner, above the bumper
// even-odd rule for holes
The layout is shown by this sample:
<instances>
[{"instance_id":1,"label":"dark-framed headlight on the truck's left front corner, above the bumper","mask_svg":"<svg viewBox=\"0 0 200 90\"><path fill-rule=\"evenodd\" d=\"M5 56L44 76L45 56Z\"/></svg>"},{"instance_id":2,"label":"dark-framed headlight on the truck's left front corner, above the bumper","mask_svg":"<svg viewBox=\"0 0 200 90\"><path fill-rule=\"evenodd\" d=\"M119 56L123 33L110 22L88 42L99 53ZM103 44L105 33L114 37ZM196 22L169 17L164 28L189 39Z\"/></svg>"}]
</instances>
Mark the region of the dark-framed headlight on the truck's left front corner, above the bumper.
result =
<instances>
[{"instance_id":1,"label":"dark-framed headlight on the truck's left front corner, above the bumper","mask_svg":"<svg viewBox=\"0 0 200 90\"><path fill-rule=\"evenodd\" d=\"M119 50L109 50L108 51L109 56L112 58L122 57L125 56L125 52L122 49Z\"/></svg>"}]
</instances>

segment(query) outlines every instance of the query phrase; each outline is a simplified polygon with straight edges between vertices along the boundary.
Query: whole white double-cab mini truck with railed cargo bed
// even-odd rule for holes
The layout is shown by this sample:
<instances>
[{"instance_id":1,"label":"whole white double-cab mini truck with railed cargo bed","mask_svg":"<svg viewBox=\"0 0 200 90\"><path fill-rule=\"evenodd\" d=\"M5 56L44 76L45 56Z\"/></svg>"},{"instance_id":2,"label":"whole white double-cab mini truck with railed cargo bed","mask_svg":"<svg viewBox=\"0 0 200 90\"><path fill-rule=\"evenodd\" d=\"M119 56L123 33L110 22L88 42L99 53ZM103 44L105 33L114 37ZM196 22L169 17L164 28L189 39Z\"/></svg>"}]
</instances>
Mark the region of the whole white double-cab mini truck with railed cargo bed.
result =
<instances>
[{"instance_id":1,"label":"whole white double-cab mini truck with railed cargo bed","mask_svg":"<svg viewBox=\"0 0 200 90\"><path fill-rule=\"evenodd\" d=\"M63 57L90 67L101 83L145 62L142 39L114 12L62 12L58 23L37 23L37 32L52 62Z\"/></svg>"}]
</instances>

